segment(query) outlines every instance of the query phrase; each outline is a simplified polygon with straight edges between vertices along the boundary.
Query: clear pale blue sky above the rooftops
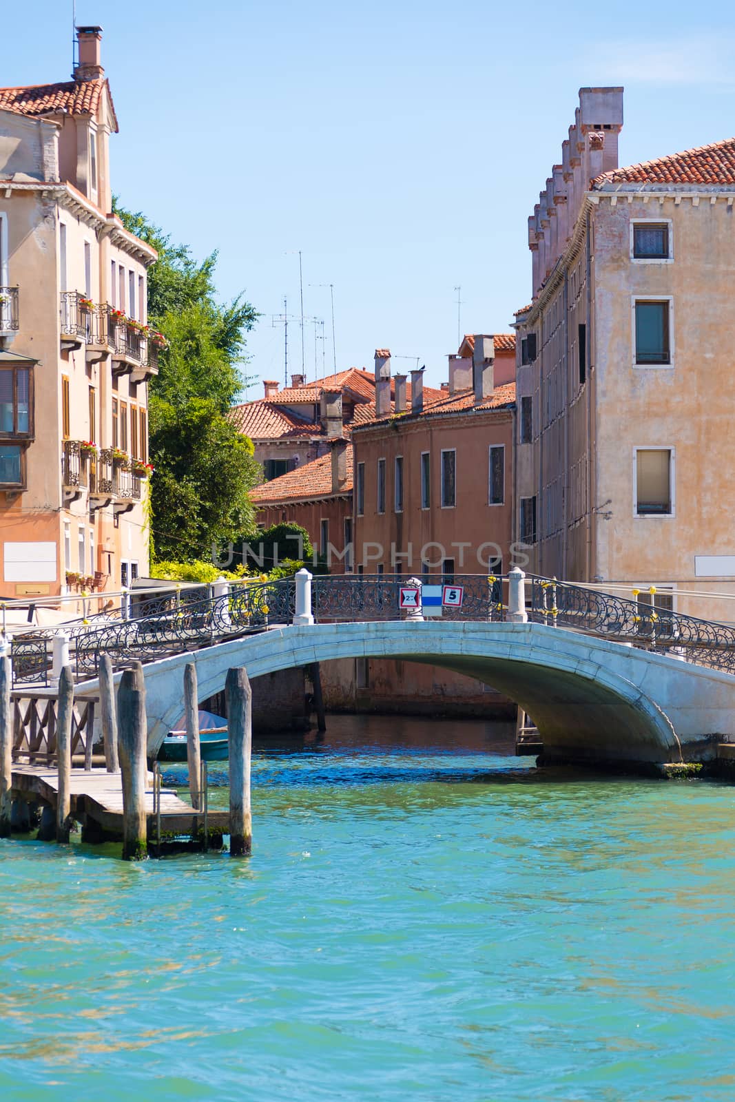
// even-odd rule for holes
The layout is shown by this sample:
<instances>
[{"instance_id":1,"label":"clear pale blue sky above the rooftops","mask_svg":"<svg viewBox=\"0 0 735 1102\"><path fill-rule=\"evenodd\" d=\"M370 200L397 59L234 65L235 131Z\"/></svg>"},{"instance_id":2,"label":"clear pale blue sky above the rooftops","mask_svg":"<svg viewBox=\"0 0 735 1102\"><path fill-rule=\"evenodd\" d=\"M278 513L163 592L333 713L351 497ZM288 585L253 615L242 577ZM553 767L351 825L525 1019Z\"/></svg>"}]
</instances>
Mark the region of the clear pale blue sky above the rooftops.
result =
<instances>
[{"instance_id":1,"label":"clear pale blue sky above the rooftops","mask_svg":"<svg viewBox=\"0 0 735 1102\"><path fill-rule=\"evenodd\" d=\"M7 4L2 21L1 85L68 78L71 0ZM407 357L394 370L417 357L439 383L457 285L465 332L507 332L580 86L625 86L621 163L735 133L724 4L78 0L77 22L105 29L116 192L195 255L219 250L223 299L245 291L262 313L257 379L283 378L271 315L284 295L299 314L300 249L327 369L329 291L311 284L334 284L338 368L387 346ZM307 323L309 378L322 347ZM300 370L298 320L289 358Z\"/></svg>"}]
</instances>

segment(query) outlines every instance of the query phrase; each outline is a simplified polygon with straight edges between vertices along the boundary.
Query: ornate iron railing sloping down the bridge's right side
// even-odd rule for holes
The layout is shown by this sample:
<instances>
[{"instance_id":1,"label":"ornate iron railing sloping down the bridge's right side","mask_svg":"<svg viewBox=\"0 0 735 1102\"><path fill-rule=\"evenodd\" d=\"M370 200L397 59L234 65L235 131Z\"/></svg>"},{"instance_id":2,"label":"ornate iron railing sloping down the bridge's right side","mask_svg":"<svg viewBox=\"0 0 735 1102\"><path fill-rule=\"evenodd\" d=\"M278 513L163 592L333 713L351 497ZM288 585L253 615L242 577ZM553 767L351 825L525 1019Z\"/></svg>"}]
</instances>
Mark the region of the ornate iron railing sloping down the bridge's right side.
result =
<instances>
[{"instance_id":1,"label":"ornate iron railing sloping down the bridge's right side","mask_svg":"<svg viewBox=\"0 0 735 1102\"><path fill-rule=\"evenodd\" d=\"M684 616L669 608L586 590L549 577L526 580L530 620L633 642L647 650L680 652L699 666L735 673L735 627Z\"/></svg>"}]
</instances>

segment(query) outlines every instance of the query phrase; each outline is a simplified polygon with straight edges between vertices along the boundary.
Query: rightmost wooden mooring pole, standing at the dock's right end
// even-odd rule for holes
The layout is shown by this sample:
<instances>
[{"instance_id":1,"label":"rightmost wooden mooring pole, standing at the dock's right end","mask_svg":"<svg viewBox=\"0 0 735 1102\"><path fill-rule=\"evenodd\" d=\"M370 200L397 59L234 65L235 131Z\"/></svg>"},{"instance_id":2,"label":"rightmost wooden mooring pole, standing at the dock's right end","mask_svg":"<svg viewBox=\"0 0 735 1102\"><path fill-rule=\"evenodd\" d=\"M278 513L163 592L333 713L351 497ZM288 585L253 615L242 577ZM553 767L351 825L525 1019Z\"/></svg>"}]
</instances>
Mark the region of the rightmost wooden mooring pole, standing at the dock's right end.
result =
<instances>
[{"instance_id":1,"label":"rightmost wooden mooring pole, standing at the dock's right end","mask_svg":"<svg viewBox=\"0 0 735 1102\"><path fill-rule=\"evenodd\" d=\"M244 667L227 671L225 700L229 737L229 852L239 857L252 849L252 689Z\"/></svg>"}]
</instances>

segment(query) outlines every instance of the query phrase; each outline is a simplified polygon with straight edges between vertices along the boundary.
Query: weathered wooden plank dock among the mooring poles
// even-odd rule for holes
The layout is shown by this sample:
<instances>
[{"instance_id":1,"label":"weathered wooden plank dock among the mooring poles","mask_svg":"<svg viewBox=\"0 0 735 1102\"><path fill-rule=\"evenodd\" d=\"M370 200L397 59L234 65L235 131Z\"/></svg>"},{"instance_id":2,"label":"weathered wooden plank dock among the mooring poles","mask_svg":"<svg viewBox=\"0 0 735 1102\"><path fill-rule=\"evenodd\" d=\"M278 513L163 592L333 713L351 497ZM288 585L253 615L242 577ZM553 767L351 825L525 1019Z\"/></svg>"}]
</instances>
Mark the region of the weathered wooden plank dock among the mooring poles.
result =
<instances>
[{"instance_id":1,"label":"weathered wooden plank dock among the mooring poles","mask_svg":"<svg viewBox=\"0 0 735 1102\"><path fill-rule=\"evenodd\" d=\"M152 775L151 789L145 792L145 814L148 836L155 839L156 817L153 811ZM12 789L25 799L43 801L55 808L58 796L58 773L52 766L20 765L13 763ZM106 769L72 769L71 775L72 815L80 822L94 820L106 833L122 838L122 780L119 773ZM204 812L194 811L191 804L180 799L174 789L161 789L161 831L166 834L190 834L196 836L204 829ZM207 811L207 829L210 833L229 833L229 811L220 809Z\"/></svg>"}]
</instances>

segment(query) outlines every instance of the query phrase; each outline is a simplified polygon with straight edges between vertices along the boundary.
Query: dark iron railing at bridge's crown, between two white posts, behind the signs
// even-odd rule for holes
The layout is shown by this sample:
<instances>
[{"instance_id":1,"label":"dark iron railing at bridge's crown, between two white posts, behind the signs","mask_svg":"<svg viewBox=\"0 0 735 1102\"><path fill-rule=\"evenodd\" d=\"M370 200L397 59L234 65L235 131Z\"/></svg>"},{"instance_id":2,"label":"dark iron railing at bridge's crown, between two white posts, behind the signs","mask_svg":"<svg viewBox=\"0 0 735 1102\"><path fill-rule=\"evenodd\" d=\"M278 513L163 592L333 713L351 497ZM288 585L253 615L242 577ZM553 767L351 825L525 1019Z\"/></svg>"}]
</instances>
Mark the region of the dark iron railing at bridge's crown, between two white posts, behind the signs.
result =
<instances>
[{"instance_id":1,"label":"dark iron railing at bridge's crown, between two white posts, behind the signs","mask_svg":"<svg viewBox=\"0 0 735 1102\"><path fill-rule=\"evenodd\" d=\"M400 611L400 591L409 585L406 574L331 574L312 582L314 619L317 623L337 620L394 620L408 612ZM453 574L420 579L428 585L462 585L462 607L445 607L443 619L502 619L502 577L486 574Z\"/></svg>"}]
</instances>

